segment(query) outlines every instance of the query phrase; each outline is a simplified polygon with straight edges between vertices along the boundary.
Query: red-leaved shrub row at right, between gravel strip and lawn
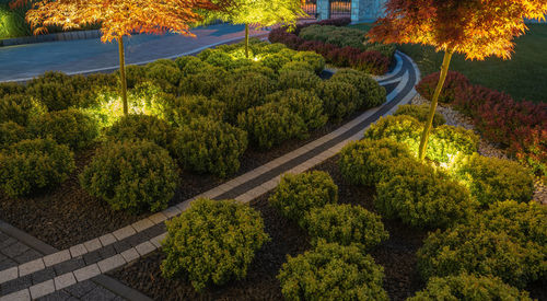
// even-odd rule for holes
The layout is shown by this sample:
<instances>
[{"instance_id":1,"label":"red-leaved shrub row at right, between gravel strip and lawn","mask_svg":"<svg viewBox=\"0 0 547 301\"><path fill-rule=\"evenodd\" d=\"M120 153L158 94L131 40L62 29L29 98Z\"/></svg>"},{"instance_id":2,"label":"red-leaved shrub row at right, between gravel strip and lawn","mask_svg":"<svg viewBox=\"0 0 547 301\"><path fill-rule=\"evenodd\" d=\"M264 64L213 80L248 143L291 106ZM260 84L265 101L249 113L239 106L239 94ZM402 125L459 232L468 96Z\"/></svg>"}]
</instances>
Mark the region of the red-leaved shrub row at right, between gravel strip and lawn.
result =
<instances>
[{"instance_id":1,"label":"red-leaved shrub row at right, between gravel strip and lawn","mask_svg":"<svg viewBox=\"0 0 547 301\"><path fill-rule=\"evenodd\" d=\"M439 73L423 78L417 91L431 100ZM440 102L469 116L487 140L505 147L539 175L547 174L547 104L515 101L510 95L473 85L458 72L449 72Z\"/></svg>"}]
</instances>

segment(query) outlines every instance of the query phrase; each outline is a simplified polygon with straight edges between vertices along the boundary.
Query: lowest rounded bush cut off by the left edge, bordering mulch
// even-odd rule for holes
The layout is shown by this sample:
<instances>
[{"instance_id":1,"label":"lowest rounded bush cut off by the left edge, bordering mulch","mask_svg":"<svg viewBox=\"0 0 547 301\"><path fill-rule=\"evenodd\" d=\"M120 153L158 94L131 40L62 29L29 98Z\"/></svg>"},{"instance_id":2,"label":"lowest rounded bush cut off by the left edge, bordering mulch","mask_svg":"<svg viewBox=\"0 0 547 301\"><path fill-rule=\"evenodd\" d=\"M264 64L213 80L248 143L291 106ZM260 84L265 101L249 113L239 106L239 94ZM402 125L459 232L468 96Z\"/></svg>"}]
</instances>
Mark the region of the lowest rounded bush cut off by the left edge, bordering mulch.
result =
<instances>
[{"instance_id":1,"label":"lowest rounded bush cut off by the left edge, bordering mulch","mask_svg":"<svg viewBox=\"0 0 547 301\"><path fill-rule=\"evenodd\" d=\"M0 188L10 197L65 182L75 169L67 146L53 139L22 140L0 152Z\"/></svg>"}]
</instances>

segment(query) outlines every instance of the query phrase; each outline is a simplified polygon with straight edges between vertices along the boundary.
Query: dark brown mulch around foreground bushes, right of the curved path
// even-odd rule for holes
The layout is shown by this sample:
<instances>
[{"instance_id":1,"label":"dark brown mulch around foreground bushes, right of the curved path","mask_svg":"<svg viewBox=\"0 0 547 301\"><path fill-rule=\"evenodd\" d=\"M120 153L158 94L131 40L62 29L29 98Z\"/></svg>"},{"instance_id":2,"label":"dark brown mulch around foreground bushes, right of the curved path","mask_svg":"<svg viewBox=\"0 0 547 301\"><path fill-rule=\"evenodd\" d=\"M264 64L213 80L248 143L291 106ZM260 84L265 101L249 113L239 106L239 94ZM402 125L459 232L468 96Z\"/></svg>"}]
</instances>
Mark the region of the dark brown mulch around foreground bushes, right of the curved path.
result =
<instances>
[{"instance_id":1,"label":"dark brown mulch around foreground bushes, right of the curved path","mask_svg":"<svg viewBox=\"0 0 547 301\"><path fill-rule=\"evenodd\" d=\"M336 164L336 158L316 167L328 172L339 187L340 202L362 205L372 210L374 189L346 184ZM185 280L166 280L161 276L162 252L139 259L130 266L113 273L128 286L142 291L154 300L282 300L276 276L286 262L286 255L295 255L310 248L306 234L293 222L269 207L268 196L251 202L260 211L266 231L272 238L255 257L244 280L232 281L223 287L209 288L198 294ZM371 255L385 268L384 288L392 300L405 300L423 283L416 269L416 251L421 246L426 232L410 229L397 221L384 220L389 240L376 247Z\"/></svg>"}]
</instances>

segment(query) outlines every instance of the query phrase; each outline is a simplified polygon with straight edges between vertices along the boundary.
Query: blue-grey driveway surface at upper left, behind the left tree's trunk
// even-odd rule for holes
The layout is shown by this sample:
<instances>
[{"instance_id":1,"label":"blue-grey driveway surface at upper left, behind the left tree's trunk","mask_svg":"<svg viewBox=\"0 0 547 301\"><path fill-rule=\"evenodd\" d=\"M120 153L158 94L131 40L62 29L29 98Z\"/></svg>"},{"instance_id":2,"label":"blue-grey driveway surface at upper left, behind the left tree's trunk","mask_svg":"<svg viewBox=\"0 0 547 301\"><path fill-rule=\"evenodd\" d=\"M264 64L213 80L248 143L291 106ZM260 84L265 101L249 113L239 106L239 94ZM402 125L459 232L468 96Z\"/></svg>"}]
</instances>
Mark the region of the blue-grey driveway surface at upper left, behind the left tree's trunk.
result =
<instances>
[{"instance_id":1,"label":"blue-grey driveway surface at upper left, behind the left tree's trunk","mask_svg":"<svg viewBox=\"0 0 547 301\"><path fill-rule=\"evenodd\" d=\"M243 25L231 24L197 27L191 32L196 37L167 34L126 38L126 62L140 65L176 58L245 36ZM251 31L252 36L265 34L266 31ZM0 48L0 82L26 81L49 70L68 74L108 71L117 69L118 63L117 43L103 44L98 38L8 46Z\"/></svg>"}]
</instances>

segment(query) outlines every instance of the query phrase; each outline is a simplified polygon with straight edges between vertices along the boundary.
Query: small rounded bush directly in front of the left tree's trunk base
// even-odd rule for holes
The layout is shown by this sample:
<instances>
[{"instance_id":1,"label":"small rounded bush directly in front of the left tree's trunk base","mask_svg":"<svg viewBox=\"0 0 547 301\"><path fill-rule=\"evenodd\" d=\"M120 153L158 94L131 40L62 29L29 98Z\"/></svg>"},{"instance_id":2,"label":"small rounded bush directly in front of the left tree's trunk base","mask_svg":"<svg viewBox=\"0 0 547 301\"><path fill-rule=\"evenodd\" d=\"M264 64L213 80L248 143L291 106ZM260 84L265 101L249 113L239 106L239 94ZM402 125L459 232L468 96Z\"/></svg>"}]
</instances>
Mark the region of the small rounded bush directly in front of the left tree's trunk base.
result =
<instances>
[{"instance_id":1,"label":"small rounded bush directly in front of the left tree's trunk base","mask_svg":"<svg viewBox=\"0 0 547 301\"><path fill-rule=\"evenodd\" d=\"M175 132L170 124L155 116L130 114L114 123L105 135L113 141L148 140L167 149Z\"/></svg>"}]
</instances>

